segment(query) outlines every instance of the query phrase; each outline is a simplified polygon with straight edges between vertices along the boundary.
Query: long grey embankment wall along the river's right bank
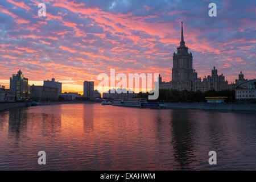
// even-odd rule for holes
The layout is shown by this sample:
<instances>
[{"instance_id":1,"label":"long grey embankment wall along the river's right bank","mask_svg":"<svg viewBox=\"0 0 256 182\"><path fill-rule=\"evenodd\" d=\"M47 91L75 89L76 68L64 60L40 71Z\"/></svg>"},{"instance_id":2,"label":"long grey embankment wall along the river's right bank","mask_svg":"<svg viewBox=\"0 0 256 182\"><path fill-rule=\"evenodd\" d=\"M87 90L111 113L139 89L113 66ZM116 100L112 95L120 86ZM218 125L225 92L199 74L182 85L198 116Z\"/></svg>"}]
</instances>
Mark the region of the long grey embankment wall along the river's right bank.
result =
<instances>
[{"instance_id":1,"label":"long grey embankment wall along the river's right bank","mask_svg":"<svg viewBox=\"0 0 256 182\"><path fill-rule=\"evenodd\" d=\"M167 109L209 109L209 110L256 111L255 104L167 103L166 108Z\"/></svg>"}]
</instances>

